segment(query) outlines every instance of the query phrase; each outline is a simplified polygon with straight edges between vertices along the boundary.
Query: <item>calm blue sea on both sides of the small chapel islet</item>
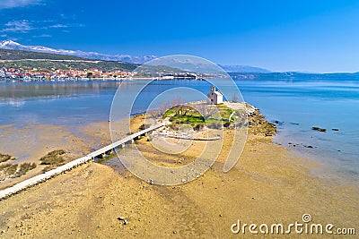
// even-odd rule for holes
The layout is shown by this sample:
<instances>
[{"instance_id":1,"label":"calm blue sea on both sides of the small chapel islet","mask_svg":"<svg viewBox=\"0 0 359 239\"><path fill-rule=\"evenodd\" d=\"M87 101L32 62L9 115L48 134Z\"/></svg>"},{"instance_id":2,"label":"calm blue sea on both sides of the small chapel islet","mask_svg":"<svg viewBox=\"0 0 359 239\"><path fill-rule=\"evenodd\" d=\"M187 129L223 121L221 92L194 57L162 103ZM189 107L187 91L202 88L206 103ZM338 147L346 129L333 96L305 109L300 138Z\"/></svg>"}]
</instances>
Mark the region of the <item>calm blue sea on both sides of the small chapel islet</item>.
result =
<instances>
[{"instance_id":1,"label":"calm blue sea on both sides of the small chapel islet","mask_svg":"<svg viewBox=\"0 0 359 239\"><path fill-rule=\"evenodd\" d=\"M76 127L108 121L118 85L123 87L121 93L129 94L147 82L1 83L0 125L37 123ZM245 101L258 107L269 121L279 122L277 143L313 156L338 174L359 179L358 81L236 83ZM159 92L176 87L189 87L206 94L209 84L206 81L153 81L136 99L131 114L144 112ZM188 95L184 88L178 93L187 101L203 99ZM312 126L326 128L327 132L312 131Z\"/></svg>"}]
</instances>

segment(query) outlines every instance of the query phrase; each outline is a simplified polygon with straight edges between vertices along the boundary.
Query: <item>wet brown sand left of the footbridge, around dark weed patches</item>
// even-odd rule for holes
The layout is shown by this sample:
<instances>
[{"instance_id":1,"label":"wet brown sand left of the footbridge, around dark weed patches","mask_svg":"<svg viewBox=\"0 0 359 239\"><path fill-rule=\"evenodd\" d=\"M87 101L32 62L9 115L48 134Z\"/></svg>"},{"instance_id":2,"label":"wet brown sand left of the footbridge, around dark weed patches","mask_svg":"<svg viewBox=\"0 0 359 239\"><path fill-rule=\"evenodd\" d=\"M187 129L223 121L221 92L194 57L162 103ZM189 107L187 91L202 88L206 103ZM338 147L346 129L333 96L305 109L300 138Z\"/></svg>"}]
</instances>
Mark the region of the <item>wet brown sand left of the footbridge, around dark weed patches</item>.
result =
<instances>
[{"instance_id":1,"label":"wet brown sand left of the footbridge, around dark weed patches","mask_svg":"<svg viewBox=\"0 0 359 239\"><path fill-rule=\"evenodd\" d=\"M17 184L34 175L41 174L45 166L40 165L39 158L56 149L66 150L66 159L80 158L91 149L94 141L80 138L65 127L51 124L4 125L0 127L0 152L16 158L5 163L36 163L37 167L26 175L0 181L0 189Z\"/></svg>"}]
</instances>

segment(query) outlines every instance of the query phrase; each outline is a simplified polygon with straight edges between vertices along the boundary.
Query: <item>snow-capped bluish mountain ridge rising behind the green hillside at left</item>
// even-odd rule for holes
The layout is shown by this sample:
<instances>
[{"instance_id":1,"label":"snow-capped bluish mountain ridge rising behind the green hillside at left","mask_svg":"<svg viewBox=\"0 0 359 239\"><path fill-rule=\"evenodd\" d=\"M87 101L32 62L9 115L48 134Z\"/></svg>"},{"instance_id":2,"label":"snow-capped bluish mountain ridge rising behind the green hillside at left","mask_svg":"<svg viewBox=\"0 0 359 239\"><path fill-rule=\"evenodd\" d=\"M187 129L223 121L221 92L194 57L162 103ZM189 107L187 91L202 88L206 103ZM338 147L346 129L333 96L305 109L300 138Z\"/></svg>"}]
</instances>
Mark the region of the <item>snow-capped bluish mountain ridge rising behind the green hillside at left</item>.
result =
<instances>
[{"instance_id":1,"label":"snow-capped bluish mountain ridge rising behind the green hillside at left","mask_svg":"<svg viewBox=\"0 0 359 239\"><path fill-rule=\"evenodd\" d=\"M59 55L74 55L88 59L96 59L96 60L104 60L104 61L121 61L121 62L136 63L136 64L144 64L156 58L156 56L154 55L144 55L144 56L106 55L97 52L83 52L77 50L74 51L74 50L54 49L54 48L42 47L42 46L24 46L13 40L0 41L0 48L10 49L10 50L24 50L24 51L33 51L33 52L52 53Z\"/></svg>"}]
</instances>

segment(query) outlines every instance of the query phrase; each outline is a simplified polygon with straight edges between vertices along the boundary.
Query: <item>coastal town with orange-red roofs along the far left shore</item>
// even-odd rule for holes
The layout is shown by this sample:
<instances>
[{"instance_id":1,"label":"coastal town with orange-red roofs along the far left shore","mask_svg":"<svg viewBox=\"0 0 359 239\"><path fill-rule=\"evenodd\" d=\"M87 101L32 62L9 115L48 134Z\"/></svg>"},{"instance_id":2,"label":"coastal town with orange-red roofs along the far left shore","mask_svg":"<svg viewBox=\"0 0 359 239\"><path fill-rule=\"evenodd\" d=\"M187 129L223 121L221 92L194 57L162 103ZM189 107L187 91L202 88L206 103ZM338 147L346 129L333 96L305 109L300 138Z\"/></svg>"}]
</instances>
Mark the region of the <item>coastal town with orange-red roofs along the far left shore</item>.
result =
<instances>
[{"instance_id":1,"label":"coastal town with orange-red roofs along the far left shore","mask_svg":"<svg viewBox=\"0 0 359 239\"><path fill-rule=\"evenodd\" d=\"M83 70L0 68L0 81L6 82L119 80L132 78L135 75L136 72L120 70L106 72L98 68Z\"/></svg>"}]
</instances>

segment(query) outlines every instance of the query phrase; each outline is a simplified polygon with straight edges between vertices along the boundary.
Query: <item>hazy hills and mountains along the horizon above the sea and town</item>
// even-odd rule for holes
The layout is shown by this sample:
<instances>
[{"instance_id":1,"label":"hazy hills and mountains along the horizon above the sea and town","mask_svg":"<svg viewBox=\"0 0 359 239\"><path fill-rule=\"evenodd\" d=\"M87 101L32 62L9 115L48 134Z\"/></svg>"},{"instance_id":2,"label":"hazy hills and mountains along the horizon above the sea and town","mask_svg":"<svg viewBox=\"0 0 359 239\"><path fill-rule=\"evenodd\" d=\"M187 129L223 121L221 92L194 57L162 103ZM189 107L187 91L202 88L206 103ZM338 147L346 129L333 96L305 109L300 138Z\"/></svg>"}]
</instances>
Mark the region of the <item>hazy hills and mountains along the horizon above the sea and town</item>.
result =
<instances>
[{"instance_id":1,"label":"hazy hills and mountains along the horizon above the sea and town","mask_svg":"<svg viewBox=\"0 0 359 239\"><path fill-rule=\"evenodd\" d=\"M83 55L80 57L79 55ZM85 57L90 55L90 57ZM134 61L133 56L129 55L102 55L99 59L95 57L101 55L98 53L85 53L81 51L57 50L48 47L39 46L23 46L11 40L0 42L0 67L13 67L22 69L91 69L98 68L101 71L133 71L139 64L127 63L126 61ZM114 60L115 58L122 60ZM120 57L119 57L120 56ZM129 57L129 58L126 58ZM155 56L141 56L141 61L153 59ZM147 58L146 58L147 57ZM96 60L95 60L96 59ZM104 59L104 60L103 60ZM138 59L139 60L139 59ZM140 61L140 60L139 60ZM173 63L168 63L167 67L164 66L144 66L144 69L161 70L163 72L183 72L177 69L179 63L173 60ZM181 69L188 72L196 72L197 65L188 62L188 69L186 65L181 64ZM206 65L205 65L206 66ZM212 64L198 66L204 71L211 72ZM271 73L267 69L254 67L250 65L220 65L224 71L230 73L233 79L248 79L248 80L321 80L321 79L348 79L358 80L359 73ZM163 69L162 69L163 68ZM217 69L215 69L217 71Z\"/></svg>"}]
</instances>

